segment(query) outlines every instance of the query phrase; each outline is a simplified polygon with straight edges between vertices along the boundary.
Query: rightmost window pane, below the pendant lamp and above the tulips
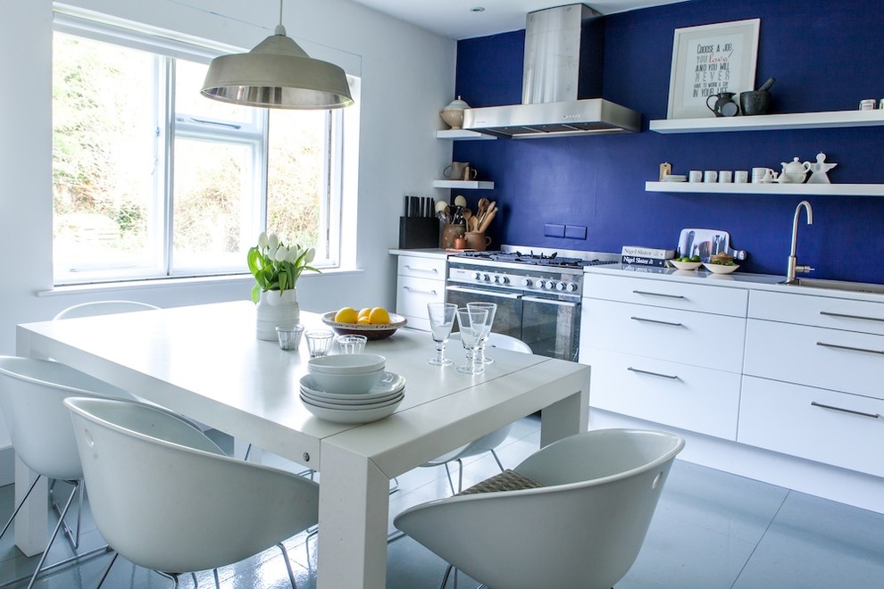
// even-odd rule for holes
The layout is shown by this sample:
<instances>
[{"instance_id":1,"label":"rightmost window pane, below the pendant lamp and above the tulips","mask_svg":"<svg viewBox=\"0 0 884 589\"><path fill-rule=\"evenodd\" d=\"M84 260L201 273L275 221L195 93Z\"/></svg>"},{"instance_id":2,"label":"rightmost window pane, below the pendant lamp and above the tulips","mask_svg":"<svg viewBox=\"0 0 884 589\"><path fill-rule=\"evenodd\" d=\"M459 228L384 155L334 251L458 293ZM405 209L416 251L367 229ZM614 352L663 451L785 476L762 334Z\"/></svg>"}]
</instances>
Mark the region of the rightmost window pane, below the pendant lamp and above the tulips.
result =
<instances>
[{"instance_id":1,"label":"rightmost window pane, below the pendant lamp and above the tulips","mask_svg":"<svg viewBox=\"0 0 884 589\"><path fill-rule=\"evenodd\" d=\"M267 231L329 259L329 113L270 111Z\"/></svg>"}]
</instances>

